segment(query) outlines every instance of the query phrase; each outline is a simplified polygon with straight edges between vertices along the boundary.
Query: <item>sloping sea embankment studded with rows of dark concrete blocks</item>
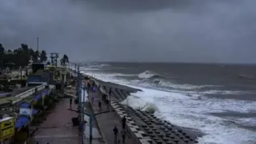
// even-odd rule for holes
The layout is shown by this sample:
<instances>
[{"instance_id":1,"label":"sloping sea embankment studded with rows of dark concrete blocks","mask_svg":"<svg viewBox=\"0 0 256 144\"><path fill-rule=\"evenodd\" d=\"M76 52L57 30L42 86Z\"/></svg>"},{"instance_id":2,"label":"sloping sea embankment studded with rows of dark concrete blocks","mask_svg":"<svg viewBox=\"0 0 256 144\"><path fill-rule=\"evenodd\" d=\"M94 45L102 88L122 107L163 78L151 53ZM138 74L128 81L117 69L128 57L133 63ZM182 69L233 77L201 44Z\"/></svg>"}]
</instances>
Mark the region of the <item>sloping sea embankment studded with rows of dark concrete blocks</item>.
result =
<instances>
[{"instance_id":1,"label":"sloping sea embankment studded with rows of dark concrete blocks","mask_svg":"<svg viewBox=\"0 0 256 144\"><path fill-rule=\"evenodd\" d=\"M95 84L100 86L100 91L106 95L112 89L114 96L111 99L111 106L120 118L123 116L127 117L129 132L137 137L140 143L198 143L196 139L203 135L198 130L175 126L166 120L161 120L152 113L133 109L133 107L127 107L121 104L121 101L125 100L131 93L142 90L114 82L104 82L89 75L82 75L83 77L90 77L95 81Z\"/></svg>"}]
</instances>

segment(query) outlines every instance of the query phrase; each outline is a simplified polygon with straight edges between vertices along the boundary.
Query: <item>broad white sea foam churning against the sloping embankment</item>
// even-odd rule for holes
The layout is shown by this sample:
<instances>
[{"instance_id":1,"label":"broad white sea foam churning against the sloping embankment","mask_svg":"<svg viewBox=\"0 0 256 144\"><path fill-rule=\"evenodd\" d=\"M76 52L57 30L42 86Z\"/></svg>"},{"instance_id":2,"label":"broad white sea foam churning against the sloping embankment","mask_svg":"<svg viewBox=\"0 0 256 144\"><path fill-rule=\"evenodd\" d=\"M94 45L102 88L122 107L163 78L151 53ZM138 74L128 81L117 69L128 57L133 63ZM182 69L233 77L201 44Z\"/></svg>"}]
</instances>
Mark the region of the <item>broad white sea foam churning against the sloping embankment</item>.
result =
<instances>
[{"instance_id":1,"label":"broad white sea foam churning against the sloping embankment","mask_svg":"<svg viewBox=\"0 0 256 144\"><path fill-rule=\"evenodd\" d=\"M91 75L91 73L87 73L87 75ZM129 105L144 109L146 105L154 103L154 107L157 107L158 110L156 111L158 117L163 117L179 126L202 130L206 135L199 139L200 143L255 143L255 132L226 123L225 118L209 115L209 113L221 113L224 111L241 113L256 111L255 102L236 101L235 99L200 98L200 94L197 93L190 97L180 91L171 92L134 86L131 85L130 81L116 79L115 77L110 77L110 75L96 73L95 77L102 81L117 82L134 88L140 88L143 92L137 92L130 96L128 98ZM209 93L213 94L215 92L217 91L209 91ZM232 94L232 91L227 91L226 93ZM123 101L123 103L127 103L127 101ZM243 121L243 119L240 120ZM255 122L253 118L247 118L245 121Z\"/></svg>"}]
</instances>

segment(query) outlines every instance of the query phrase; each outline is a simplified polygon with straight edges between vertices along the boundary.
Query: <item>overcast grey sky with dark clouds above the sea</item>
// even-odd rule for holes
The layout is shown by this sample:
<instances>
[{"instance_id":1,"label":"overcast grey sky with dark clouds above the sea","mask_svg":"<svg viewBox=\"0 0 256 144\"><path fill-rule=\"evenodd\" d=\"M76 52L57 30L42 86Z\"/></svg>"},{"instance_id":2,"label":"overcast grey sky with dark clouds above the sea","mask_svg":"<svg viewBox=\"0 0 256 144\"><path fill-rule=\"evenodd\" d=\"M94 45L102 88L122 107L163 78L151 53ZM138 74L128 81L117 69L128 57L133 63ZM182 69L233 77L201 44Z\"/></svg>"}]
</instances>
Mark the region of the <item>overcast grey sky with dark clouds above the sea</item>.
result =
<instances>
[{"instance_id":1,"label":"overcast grey sky with dark clouds above the sea","mask_svg":"<svg viewBox=\"0 0 256 144\"><path fill-rule=\"evenodd\" d=\"M72 61L256 63L256 0L0 0L0 43Z\"/></svg>"}]
</instances>

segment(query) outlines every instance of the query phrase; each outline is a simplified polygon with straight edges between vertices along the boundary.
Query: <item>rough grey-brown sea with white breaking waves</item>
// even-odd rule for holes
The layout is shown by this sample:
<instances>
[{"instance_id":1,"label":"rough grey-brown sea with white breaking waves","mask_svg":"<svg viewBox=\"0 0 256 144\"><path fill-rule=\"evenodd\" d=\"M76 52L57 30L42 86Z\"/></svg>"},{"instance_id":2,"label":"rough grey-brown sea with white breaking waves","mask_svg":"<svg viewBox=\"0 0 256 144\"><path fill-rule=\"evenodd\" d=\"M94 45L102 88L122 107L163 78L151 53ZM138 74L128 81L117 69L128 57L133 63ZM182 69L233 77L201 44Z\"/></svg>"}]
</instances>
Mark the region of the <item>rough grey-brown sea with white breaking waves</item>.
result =
<instances>
[{"instance_id":1,"label":"rough grey-brown sea with white breaking waves","mask_svg":"<svg viewBox=\"0 0 256 144\"><path fill-rule=\"evenodd\" d=\"M199 143L256 143L256 65L82 62L81 72L140 88L129 105L203 132Z\"/></svg>"}]
</instances>

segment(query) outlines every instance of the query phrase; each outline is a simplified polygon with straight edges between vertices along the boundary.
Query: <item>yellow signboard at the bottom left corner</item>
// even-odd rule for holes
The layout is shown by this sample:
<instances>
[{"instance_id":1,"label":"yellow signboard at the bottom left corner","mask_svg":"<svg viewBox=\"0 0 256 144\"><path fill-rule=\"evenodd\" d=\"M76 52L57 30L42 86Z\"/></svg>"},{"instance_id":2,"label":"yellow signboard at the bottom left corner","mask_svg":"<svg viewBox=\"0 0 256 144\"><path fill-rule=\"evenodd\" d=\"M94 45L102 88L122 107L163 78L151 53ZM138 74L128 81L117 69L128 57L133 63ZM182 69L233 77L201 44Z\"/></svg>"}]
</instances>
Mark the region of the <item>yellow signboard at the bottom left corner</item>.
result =
<instances>
[{"instance_id":1,"label":"yellow signboard at the bottom left corner","mask_svg":"<svg viewBox=\"0 0 256 144\"><path fill-rule=\"evenodd\" d=\"M0 123L0 141L8 139L14 135L14 119L5 118Z\"/></svg>"}]
</instances>

